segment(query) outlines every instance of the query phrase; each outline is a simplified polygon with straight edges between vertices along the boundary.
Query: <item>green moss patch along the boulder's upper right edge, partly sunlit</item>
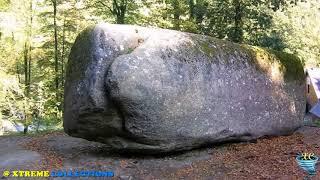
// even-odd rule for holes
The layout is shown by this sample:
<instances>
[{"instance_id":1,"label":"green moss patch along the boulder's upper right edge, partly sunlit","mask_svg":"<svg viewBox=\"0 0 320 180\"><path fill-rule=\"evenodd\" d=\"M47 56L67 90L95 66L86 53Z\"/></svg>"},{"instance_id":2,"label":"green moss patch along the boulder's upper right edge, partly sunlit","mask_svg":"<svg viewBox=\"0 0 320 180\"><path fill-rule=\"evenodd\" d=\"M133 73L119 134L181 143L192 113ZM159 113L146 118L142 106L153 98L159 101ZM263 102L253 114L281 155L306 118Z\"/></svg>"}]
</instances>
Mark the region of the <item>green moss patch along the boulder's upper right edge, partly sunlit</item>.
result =
<instances>
[{"instance_id":1,"label":"green moss patch along the boulder's upper right edge, partly sunlit","mask_svg":"<svg viewBox=\"0 0 320 180\"><path fill-rule=\"evenodd\" d=\"M253 63L258 69L272 76L283 76L286 81L304 81L303 62L293 54L232 43L208 36L190 36L190 38L195 42L196 47L189 48L195 48L196 51L209 57L211 62L214 58L218 59L219 63L229 64L232 63L231 59L237 59L236 63Z\"/></svg>"}]
</instances>

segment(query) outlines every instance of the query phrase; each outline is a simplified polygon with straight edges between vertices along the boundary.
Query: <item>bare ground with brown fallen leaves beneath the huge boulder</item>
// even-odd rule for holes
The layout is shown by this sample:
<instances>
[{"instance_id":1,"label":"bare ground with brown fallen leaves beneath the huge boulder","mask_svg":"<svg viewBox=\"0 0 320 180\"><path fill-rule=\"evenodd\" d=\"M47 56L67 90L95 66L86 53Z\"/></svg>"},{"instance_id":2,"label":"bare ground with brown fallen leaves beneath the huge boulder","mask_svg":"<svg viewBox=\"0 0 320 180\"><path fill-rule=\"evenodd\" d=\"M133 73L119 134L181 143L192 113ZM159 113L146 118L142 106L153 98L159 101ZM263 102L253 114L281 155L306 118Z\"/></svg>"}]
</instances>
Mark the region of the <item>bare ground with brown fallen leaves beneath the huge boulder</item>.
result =
<instances>
[{"instance_id":1,"label":"bare ground with brown fallen leaves beneath the huge boulder","mask_svg":"<svg viewBox=\"0 0 320 180\"><path fill-rule=\"evenodd\" d=\"M0 179L5 170L57 169L113 171L114 177L109 179L121 180L303 179L307 174L298 167L295 157L301 152L320 155L319 137L320 128L304 126L290 136L256 142L229 143L166 156L126 156L63 132L2 136ZM320 168L311 179L320 179Z\"/></svg>"}]
</instances>

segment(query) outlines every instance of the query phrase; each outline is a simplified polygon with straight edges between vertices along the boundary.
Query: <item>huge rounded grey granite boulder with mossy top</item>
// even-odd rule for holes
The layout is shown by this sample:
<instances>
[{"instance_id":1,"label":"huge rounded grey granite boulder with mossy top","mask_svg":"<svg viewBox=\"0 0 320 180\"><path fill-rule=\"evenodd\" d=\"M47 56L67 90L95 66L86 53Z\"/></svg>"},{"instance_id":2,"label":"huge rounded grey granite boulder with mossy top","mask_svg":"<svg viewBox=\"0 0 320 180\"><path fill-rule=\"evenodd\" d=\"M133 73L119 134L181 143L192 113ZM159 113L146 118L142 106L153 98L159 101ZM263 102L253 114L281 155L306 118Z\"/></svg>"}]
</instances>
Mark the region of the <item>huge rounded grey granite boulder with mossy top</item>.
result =
<instances>
[{"instance_id":1,"label":"huge rounded grey granite boulder with mossy top","mask_svg":"<svg viewBox=\"0 0 320 180\"><path fill-rule=\"evenodd\" d=\"M285 135L302 125L304 91L303 66L289 54L101 24L71 50L64 130L143 153Z\"/></svg>"}]
</instances>

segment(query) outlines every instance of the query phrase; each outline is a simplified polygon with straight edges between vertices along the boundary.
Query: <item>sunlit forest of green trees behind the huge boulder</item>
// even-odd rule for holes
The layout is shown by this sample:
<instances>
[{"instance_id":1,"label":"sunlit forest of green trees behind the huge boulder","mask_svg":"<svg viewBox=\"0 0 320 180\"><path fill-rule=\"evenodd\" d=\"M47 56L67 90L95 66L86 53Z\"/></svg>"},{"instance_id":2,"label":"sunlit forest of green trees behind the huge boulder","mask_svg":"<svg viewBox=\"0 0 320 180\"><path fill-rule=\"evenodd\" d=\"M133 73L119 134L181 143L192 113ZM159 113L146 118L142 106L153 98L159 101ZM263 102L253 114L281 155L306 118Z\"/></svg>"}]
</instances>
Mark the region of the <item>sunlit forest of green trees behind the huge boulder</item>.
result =
<instances>
[{"instance_id":1,"label":"sunlit forest of green trees behind the huge boulder","mask_svg":"<svg viewBox=\"0 0 320 180\"><path fill-rule=\"evenodd\" d=\"M192 32L320 63L319 0L0 0L1 123L62 128L68 54L99 23ZM29 128L29 129L28 129Z\"/></svg>"}]
</instances>

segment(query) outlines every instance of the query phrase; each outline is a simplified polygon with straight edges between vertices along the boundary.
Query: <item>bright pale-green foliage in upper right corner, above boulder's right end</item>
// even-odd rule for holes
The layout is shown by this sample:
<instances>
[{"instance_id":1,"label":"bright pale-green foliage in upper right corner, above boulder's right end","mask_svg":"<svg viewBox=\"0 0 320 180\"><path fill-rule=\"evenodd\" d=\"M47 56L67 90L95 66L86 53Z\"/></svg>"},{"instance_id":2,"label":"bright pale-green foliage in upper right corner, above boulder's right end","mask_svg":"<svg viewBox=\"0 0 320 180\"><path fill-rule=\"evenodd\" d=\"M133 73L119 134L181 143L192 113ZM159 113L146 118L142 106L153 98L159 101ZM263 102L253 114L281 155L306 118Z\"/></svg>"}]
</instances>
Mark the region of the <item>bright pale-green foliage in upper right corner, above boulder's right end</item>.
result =
<instances>
[{"instance_id":1,"label":"bright pale-green foliage in upper right corner, above boulder's right end","mask_svg":"<svg viewBox=\"0 0 320 180\"><path fill-rule=\"evenodd\" d=\"M320 4L317 0L298 2L274 14L274 31L279 34L286 51L298 54L307 66L319 65Z\"/></svg>"}]
</instances>

